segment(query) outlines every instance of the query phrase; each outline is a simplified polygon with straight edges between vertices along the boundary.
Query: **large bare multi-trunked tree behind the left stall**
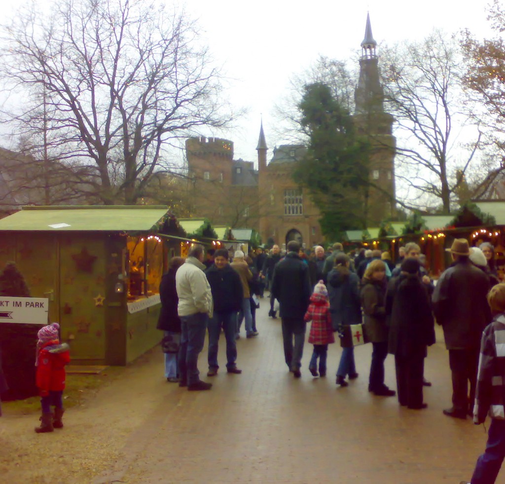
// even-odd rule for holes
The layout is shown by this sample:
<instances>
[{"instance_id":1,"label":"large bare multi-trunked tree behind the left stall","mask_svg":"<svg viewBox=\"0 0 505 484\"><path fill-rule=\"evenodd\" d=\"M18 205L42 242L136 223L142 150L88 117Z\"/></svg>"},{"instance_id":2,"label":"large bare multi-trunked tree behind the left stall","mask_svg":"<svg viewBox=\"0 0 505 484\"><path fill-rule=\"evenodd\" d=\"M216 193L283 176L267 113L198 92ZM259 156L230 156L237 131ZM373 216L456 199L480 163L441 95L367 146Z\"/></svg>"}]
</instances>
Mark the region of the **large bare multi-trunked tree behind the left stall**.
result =
<instances>
[{"instance_id":1,"label":"large bare multi-trunked tree behind the left stall","mask_svg":"<svg viewBox=\"0 0 505 484\"><path fill-rule=\"evenodd\" d=\"M6 121L39 159L83 170L78 182L104 204L135 204L155 172L173 168L166 148L234 119L184 12L59 0L48 17L34 6L18 13L2 37L6 87L17 105L27 100Z\"/></svg>"}]
</instances>

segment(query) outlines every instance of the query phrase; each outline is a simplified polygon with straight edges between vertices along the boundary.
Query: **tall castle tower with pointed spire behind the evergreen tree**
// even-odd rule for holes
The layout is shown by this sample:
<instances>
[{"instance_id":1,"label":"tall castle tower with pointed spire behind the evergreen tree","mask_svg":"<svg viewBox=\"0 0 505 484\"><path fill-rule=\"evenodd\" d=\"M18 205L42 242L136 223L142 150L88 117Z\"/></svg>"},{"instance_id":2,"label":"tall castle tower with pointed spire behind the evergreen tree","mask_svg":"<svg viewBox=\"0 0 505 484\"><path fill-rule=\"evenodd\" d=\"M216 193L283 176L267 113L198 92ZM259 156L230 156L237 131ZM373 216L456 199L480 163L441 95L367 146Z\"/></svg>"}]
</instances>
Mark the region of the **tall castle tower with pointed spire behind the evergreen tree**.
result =
<instances>
[{"instance_id":1,"label":"tall castle tower with pointed spire behind the evergreen tree","mask_svg":"<svg viewBox=\"0 0 505 484\"><path fill-rule=\"evenodd\" d=\"M377 42L372 35L370 14L367 14L361 48L354 120L358 132L367 135L372 144L369 170L371 186L368 197L365 197L365 217L368 227L377 227L381 221L395 216L396 138L392 135L394 118L384 111L384 90L380 83Z\"/></svg>"}]
</instances>

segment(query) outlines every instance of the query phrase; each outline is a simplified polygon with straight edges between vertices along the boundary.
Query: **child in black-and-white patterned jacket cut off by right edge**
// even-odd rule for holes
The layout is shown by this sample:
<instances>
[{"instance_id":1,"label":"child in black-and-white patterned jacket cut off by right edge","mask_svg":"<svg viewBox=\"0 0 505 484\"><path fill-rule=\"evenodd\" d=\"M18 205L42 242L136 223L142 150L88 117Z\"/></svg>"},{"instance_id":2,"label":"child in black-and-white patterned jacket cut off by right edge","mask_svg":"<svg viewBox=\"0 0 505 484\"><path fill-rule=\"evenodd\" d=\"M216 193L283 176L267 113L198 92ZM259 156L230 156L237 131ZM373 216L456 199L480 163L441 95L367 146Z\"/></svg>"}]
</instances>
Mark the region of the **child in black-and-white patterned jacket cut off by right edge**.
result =
<instances>
[{"instance_id":1,"label":"child in black-and-white patterned jacket cut off by right edge","mask_svg":"<svg viewBox=\"0 0 505 484\"><path fill-rule=\"evenodd\" d=\"M492 287L487 301L493 320L482 333L474 423L484 423L489 415L491 425L486 450L477 459L472 484L495 482L505 458L505 283Z\"/></svg>"}]
</instances>

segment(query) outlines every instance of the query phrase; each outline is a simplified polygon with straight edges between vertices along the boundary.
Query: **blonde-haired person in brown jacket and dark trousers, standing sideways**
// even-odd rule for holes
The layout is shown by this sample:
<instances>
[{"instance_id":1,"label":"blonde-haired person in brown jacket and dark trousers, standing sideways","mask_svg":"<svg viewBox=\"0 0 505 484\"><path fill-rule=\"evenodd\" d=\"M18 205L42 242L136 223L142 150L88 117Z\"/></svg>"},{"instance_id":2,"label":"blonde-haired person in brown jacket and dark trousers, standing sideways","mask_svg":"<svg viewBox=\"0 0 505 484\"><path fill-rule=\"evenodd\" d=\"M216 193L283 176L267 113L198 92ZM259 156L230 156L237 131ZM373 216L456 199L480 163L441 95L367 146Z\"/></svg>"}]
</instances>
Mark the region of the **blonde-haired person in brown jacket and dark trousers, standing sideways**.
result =
<instances>
[{"instance_id":1,"label":"blonde-haired person in brown jacket and dark trousers, standing sideways","mask_svg":"<svg viewBox=\"0 0 505 484\"><path fill-rule=\"evenodd\" d=\"M365 327L373 345L368 391L381 397L396 395L384 384L384 360L387 356L386 326L386 265L380 260L372 261L365 271L361 288L361 305L365 314Z\"/></svg>"}]
</instances>

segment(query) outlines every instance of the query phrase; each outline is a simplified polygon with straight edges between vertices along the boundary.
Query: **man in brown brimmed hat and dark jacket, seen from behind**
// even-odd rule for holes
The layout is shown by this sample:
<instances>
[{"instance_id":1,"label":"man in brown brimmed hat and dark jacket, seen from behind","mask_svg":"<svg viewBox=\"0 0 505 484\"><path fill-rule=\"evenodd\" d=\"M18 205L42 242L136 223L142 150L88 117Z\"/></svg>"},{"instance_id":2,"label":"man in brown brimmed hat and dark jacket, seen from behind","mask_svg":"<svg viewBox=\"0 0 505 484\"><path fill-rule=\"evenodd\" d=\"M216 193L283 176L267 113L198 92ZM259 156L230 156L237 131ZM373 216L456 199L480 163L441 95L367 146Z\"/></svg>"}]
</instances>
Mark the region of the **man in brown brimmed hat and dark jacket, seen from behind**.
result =
<instances>
[{"instance_id":1,"label":"man in brown brimmed hat and dark jacket, seen from behind","mask_svg":"<svg viewBox=\"0 0 505 484\"><path fill-rule=\"evenodd\" d=\"M443 413L464 419L473 413L479 345L482 331L491 320L486 300L489 280L470 262L466 239L455 239L447 250L454 262L440 276L432 298L433 311L437 323L442 325L449 350L452 372L452 407Z\"/></svg>"}]
</instances>

